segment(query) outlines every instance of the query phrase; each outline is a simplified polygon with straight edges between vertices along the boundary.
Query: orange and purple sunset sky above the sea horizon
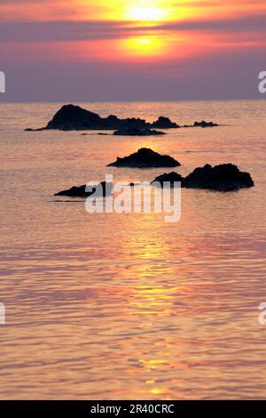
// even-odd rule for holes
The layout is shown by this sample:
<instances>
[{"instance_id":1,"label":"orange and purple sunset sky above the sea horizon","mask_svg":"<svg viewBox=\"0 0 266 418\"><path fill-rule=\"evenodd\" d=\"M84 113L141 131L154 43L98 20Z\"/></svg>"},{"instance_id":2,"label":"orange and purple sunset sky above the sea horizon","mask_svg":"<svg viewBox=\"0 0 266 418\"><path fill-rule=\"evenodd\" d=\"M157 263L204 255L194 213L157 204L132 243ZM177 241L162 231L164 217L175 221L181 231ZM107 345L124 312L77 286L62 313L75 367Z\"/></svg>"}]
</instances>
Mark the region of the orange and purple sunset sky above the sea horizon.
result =
<instances>
[{"instance_id":1,"label":"orange and purple sunset sky above the sea horizon","mask_svg":"<svg viewBox=\"0 0 266 418\"><path fill-rule=\"evenodd\" d=\"M0 100L259 97L263 0L1 0Z\"/></svg>"}]
</instances>

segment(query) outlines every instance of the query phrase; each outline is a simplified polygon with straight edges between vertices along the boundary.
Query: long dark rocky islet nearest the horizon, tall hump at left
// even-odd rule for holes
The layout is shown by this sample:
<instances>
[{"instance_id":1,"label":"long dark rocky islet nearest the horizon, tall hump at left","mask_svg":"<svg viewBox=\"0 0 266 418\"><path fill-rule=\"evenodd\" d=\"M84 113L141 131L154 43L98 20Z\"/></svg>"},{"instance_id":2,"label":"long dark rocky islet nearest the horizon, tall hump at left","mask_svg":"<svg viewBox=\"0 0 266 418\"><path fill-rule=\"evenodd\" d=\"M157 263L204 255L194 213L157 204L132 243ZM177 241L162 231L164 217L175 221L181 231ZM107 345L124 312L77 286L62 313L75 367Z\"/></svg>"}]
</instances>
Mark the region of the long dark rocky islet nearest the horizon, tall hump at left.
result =
<instances>
[{"instance_id":1,"label":"long dark rocky islet nearest the horizon, tall hump at left","mask_svg":"<svg viewBox=\"0 0 266 418\"><path fill-rule=\"evenodd\" d=\"M157 126L158 125L158 126ZM38 129L59 129L61 131L86 131L86 130L118 130L121 128L135 127L137 129L153 128L164 125L168 127L177 127L178 125L172 123L167 117L159 117L158 121L149 124L145 119L136 117L120 119L114 115L109 117L100 117L97 113L82 109L79 106L72 104L64 105L55 116L51 119L48 125L44 128ZM35 129L27 129L30 131L37 131Z\"/></svg>"}]
</instances>

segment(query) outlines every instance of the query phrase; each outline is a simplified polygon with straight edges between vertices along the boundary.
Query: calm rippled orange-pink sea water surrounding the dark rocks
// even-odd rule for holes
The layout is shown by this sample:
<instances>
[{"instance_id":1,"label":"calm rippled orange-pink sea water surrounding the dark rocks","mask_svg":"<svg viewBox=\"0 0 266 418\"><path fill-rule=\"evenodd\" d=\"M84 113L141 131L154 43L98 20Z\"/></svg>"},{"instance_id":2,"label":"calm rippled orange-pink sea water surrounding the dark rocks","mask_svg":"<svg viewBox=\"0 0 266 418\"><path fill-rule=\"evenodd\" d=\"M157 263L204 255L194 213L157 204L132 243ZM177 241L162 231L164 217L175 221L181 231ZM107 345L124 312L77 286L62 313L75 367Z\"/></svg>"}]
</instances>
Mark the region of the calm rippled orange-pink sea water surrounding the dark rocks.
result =
<instances>
[{"instance_id":1,"label":"calm rippled orange-pink sea water surrounding the dark rocks","mask_svg":"<svg viewBox=\"0 0 266 418\"><path fill-rule=\"evenodd\" d=\"M61 104L0 104L0 398L266 398L265 100L80 104L223 126L148 138L28 133ZM106 167L140 147L176 157L182 174L235 163L255 187L183 189L171 224L53 197L106 173L152 181L168 171Z\"/></svg>"}]
</instances>

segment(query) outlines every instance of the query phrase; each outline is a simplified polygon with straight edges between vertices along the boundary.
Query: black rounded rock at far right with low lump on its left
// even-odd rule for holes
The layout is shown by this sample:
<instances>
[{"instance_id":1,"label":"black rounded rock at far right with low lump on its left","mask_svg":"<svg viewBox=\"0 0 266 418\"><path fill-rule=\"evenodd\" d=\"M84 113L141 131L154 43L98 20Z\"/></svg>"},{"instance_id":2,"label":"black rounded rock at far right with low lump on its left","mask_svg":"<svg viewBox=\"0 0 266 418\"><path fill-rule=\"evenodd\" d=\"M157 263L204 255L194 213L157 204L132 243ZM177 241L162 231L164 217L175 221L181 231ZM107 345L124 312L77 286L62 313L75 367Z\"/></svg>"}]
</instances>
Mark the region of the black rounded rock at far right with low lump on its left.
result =
<instances>
[{"instance_id":1,"label":"black rounded rock at far right with low lump on its left","mask_svg":"<svg viewBox=\"0 0 266 418\"><path fill-rule=\"evenodd\" d=\"M254 186L250 174L240 172L239 167L232 164L198 167L185 178L177 173L162 174L154 181L160 182L161 185L163 181L170 181L171 184L181 181L184 188L217 191L233 191Z\"/></svg>"}]
</instances>

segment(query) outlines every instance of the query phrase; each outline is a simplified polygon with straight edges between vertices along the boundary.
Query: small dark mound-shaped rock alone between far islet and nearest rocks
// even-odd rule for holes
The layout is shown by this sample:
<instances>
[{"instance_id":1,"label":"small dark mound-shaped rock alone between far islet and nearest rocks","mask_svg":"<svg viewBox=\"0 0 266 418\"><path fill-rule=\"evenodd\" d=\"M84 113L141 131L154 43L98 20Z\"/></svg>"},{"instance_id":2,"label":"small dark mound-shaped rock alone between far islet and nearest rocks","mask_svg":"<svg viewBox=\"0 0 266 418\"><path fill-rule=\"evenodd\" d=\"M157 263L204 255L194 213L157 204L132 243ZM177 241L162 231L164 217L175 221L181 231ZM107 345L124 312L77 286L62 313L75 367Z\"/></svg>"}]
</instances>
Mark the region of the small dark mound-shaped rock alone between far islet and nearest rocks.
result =
<instances>
[{"instance_id":1,"label":"small dark mound-shaped rock alone between far islet and nearest rocks","mask_svg":"<svg viewBox=\"0 0 266 418\"><path fill-rule=\"evenodd\" d=\"M131 154L129 157L117 157L117 160L109 164L109 167L132 167L132 168L146 168L146 167L177 167L180 163L175 158L169 156L161 156L153 149L138 149L137 152Z\"/></svg>"}]
</instances>

